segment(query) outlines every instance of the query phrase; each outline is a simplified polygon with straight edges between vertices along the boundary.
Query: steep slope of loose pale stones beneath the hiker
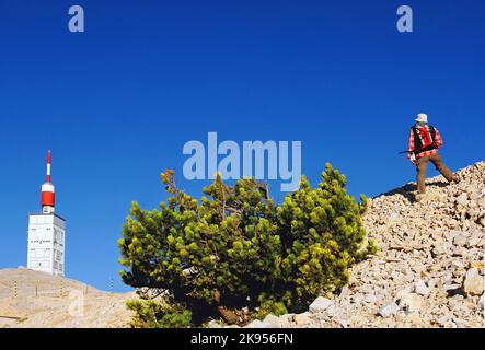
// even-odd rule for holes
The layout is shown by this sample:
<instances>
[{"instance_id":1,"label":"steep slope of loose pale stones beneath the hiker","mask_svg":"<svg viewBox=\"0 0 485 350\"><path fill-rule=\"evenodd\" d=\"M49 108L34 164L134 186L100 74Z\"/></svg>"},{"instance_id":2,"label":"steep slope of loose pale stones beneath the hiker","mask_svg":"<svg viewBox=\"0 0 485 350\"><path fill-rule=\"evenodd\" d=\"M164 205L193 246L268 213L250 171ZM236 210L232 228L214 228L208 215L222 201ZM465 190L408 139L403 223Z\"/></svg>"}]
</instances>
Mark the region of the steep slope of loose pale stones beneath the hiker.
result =
<instances>
[{"instance_id":1,"label":"steep slope of loose pale stones beneath the hiker","mask_svg":"<svg viewBox=\"0 0 485 350\"><path fill-rule=\"evenodd\" d=\"M365 223L381 250L340 295L247 327L484 327L485 162L459 174L430 178L420 202L415 184L371 199Z\"/></svg>"}]
</instances>

